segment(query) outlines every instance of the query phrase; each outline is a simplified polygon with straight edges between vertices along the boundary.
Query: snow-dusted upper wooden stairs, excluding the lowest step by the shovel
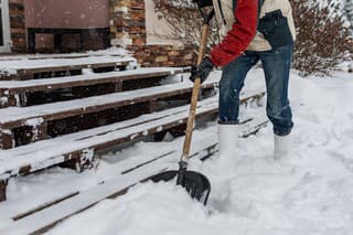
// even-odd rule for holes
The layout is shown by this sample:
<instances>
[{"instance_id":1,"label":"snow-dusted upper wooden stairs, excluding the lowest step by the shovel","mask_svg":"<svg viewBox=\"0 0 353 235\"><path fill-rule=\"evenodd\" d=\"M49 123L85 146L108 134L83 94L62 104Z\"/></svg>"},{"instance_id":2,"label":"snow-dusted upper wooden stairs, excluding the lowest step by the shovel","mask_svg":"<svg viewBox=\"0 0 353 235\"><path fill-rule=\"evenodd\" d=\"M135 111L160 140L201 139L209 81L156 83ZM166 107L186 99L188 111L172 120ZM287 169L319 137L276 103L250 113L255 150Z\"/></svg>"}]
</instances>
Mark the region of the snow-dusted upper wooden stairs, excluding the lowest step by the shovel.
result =
<instances>
[{"instance_id":1,"label":"snow-dusted upper wooden stairs, excluding the lowest step by the shovel","mask_svg":"<svg viewBox=\"0 0 353 235\"><path fill-rule=\"evenodd\" d=\"M183 132L192 92L192 83L182 81L185 68L127 70L132 62L89 56L2 63L0 201L11 177L60 163L82 169L96 150L170 129ZM205 83L202 98L214 95L216 84ZM214 114L215 104L201 105L199 116Z\"/></svg>"}]
</instances>

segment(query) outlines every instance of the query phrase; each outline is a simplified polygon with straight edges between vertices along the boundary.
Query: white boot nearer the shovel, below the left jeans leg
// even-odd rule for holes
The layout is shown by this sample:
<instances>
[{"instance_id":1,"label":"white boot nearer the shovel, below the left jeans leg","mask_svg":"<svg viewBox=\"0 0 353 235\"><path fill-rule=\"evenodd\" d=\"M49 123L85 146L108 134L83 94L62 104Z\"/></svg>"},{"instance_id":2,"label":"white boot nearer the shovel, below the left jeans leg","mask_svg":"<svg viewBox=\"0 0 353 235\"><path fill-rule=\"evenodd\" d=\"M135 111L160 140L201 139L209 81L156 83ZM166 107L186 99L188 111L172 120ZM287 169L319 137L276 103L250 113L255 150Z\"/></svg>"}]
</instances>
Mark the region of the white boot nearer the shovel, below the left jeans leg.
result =
<instances>
[{"instance_id":1,"label":"white boot nearer the shovel, below the left jeans leg","mask_svg":"<svg viewBox=\"0 0 353 235\"><path fill-rule=\"evenodd\" d=\"M218 171L236 167L233 162L237 159L236 142L238 141L238 125L218 125L220 157L216 161Z\"/></svg>"}]
</instances>

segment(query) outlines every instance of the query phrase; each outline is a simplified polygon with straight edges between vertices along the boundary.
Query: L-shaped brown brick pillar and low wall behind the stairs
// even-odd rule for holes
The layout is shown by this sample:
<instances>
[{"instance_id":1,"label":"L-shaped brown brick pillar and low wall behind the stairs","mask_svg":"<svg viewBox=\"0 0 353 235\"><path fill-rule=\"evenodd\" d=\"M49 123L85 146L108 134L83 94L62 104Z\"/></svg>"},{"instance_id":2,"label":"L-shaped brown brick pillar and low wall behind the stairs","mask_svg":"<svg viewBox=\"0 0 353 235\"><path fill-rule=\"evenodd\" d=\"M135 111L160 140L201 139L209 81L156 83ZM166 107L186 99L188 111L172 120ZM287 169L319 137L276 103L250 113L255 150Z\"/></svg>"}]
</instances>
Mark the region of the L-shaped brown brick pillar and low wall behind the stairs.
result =
<instances>
[{"instance_id":1,"label":"L-shaped brown brick pillar and low wall behind the stairs","mask_svg":"<svg viewBox=\"0 0 353 235\"><path fill-rule=\"evenodd\" d=\"M142 66L192 64L190 46L147 44L145 0L110 0L109 15L111 45L126 46Z\"/></svg>"}]
</instances>

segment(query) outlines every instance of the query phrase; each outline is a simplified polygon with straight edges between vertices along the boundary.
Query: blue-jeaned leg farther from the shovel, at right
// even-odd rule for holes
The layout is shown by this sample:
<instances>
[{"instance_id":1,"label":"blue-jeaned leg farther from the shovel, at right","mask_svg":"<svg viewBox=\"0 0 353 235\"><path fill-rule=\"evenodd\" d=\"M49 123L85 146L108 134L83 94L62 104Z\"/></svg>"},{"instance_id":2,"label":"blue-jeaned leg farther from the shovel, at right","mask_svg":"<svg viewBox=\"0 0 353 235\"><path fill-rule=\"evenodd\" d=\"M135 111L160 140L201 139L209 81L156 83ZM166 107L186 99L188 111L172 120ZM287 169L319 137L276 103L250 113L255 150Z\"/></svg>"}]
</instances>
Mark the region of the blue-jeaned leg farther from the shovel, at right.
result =
<instances>
[{"instance_id":1,"label":"blue-jeaned leg farther from the shovel, at right","mask_svg":"<svg viewBox=\"0 0 353 235\"><path fill-rule=\"evenodd\" d=\"M267 116L274 125L275 135L280 137L289 135L293 127L288 99L292 51L292 45L286 45L259 53L266 77Z\"/></svg>"}]
</instances>

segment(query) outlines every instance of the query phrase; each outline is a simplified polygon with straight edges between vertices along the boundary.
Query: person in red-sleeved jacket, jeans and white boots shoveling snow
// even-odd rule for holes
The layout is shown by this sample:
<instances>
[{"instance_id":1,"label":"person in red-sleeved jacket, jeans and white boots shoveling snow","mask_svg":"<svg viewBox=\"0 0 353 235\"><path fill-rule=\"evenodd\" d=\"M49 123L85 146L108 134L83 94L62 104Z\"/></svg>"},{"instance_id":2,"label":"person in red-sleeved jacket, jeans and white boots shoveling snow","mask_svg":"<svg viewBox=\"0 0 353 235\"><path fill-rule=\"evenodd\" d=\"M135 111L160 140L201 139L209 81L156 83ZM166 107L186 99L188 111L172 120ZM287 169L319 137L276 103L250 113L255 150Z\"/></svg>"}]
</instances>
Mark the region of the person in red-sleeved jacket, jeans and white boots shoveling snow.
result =
<instances>
[{"instance_id":1,"label":"person in red-sleeved jacket, jeans and white boots shoveling snow","mask_svg":"<svg viewBox=\"0 0 353 235\"><path fill-rule=\"evenodd\" d=\"M274 125L274 158L288 154L289 133L293 127L288 99L288 82L296 39L291 6L288 0L199 0L213 4L217 22L223 24L223 40L205 56L191 79L205 81L213 67L222 67L220 82L220 158L236 154L239 94L248 71L263 63L267 87L267 116ZM236 19L236 20L235 20Z\"/></svg>"}]
</instances>

